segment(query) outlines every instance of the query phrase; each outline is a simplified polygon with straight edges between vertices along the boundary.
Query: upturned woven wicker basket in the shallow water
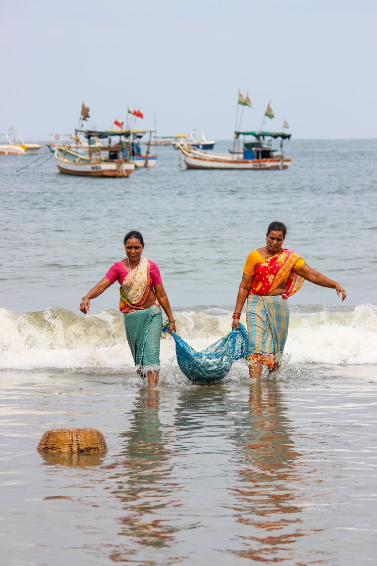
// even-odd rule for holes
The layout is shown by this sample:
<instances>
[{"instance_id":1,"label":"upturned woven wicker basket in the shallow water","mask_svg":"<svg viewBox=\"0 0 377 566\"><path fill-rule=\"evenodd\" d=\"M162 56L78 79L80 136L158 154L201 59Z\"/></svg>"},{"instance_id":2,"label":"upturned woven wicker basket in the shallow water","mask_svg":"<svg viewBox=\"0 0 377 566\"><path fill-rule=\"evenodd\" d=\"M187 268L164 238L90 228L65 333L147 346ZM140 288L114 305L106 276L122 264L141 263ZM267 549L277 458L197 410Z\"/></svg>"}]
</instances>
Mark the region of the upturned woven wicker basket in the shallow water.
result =
<instances>
[{"instance_id":1,"label":"upturned woven wicker basket in the shallow water","mask_svg":"<svg viewBox=\"0 0 377 566\"><path fill-rule=\"evenodd\" d=\"M102 432L96 428L52 428L42 435L38 452L66 452L70 454L106 452Z\"/></svg>"}]
</instances>

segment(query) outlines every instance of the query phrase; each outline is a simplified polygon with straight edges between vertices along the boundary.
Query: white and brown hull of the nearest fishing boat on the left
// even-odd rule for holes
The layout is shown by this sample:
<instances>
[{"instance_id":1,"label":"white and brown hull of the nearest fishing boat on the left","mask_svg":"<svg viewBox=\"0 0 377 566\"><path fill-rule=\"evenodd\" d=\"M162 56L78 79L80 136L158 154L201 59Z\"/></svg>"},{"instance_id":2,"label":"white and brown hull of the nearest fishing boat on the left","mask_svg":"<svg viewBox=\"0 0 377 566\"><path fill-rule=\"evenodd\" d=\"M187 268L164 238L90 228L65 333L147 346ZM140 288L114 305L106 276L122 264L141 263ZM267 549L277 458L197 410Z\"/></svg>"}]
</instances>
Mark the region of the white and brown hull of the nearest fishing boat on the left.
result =
<instances>
[{"instance_id":1,"label":"white and brown hull of the nearest fishing boat on the left","mask_svg":"<svg viewBox=\"0 0 377 566\"><path fill-rule=\"evenodd\" d=\"M60 173L66 175L80 175L81 177L129 177L135 170L135 163L122 159L118 160L90 160L88 157L81 156L79 153L68 150L55 151L55 158ZM75 161L72 159L75 157Z\"/></svg>"}]
</instances>

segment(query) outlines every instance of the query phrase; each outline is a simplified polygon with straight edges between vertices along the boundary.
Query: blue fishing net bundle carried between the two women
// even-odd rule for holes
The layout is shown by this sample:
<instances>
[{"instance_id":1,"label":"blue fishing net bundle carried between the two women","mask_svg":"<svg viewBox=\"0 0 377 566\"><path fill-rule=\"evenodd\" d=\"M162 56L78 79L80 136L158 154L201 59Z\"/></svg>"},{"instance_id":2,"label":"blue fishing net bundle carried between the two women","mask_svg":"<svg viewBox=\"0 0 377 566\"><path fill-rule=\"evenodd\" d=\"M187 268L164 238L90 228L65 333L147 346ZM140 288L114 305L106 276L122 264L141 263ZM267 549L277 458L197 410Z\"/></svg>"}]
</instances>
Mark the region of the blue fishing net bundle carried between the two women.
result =
<instances>
[{"instance_id":1,"label":"blue fishing net bundle carried between the two women","mask_svg":"<svg viewBox=\"0 0 377 566\"><path fill-rule=\"evenodd\" d=\"M166 336L169 329L167 322L162 329L163 336ZM195 383L212 383L223 379L229 372L233 360L244 358L249 354L248 333L242 324L239 328L239 330L233 328L227 336L200 352L189 346L176 332L172 332L177 362L183 374Z\"/></svg>"}]
</instances>

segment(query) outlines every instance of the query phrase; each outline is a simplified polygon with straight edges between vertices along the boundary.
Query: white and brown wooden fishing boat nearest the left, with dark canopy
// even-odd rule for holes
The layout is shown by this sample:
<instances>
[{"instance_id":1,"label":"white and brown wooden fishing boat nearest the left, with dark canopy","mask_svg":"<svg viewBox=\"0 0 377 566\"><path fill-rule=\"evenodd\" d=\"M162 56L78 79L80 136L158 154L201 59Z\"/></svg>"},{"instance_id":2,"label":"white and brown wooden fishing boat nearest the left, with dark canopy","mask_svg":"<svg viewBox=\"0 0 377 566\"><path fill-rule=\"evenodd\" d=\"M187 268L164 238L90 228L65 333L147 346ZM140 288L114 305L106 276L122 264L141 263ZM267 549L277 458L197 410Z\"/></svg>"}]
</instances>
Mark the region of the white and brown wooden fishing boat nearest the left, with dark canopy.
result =
<instances>
[{"instance_id":1,"label":"white and brown wooden fishing boat nearest the left, with dark canopy","mask_svg":"<svg viewBox=\"0 0 377 566\"><path fill-rule=\"evenodd\" d=\"M84 177L129 177L135 170L131 160L129 130L76 130L86 145L58 145L55 158L60 173ZM118 141L114 143L117 136ZM107 140L103 145L99 140Z\"/></svg>"}]
</instances>

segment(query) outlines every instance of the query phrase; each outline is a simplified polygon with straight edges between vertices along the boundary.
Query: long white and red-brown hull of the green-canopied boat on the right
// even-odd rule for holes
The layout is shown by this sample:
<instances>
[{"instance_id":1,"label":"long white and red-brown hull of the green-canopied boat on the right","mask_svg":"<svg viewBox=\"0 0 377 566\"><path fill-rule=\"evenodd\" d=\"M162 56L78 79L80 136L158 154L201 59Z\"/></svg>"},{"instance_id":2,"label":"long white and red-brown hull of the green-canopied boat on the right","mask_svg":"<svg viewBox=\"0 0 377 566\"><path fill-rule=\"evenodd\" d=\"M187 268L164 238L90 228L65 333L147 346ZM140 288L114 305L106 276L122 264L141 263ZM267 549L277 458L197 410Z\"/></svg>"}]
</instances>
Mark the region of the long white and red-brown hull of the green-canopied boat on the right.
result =
<instances>
[{"instance_id":1,"label":"long white and red-brown hull of the green-canopied boat on the right","mask_svg":"<svg viewBox=\"0 0 377 566\"><path fill-rule=\"evenodd\" d=\"M207 155L205 152L187 151L181 146L178 149L183 155L188 169L249 169L261 171L288 169L291 165L291 159L283 156L267 159L241 159L226 153Z\"/></svg>"}]
</instances>

